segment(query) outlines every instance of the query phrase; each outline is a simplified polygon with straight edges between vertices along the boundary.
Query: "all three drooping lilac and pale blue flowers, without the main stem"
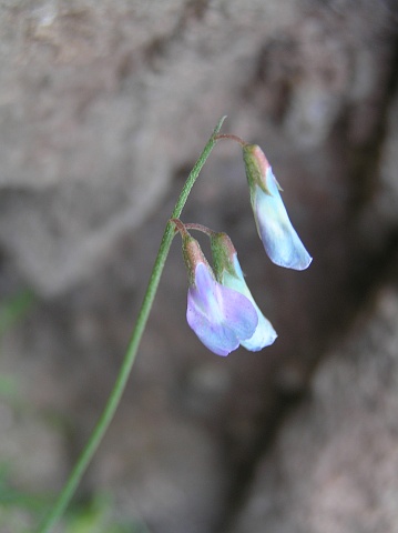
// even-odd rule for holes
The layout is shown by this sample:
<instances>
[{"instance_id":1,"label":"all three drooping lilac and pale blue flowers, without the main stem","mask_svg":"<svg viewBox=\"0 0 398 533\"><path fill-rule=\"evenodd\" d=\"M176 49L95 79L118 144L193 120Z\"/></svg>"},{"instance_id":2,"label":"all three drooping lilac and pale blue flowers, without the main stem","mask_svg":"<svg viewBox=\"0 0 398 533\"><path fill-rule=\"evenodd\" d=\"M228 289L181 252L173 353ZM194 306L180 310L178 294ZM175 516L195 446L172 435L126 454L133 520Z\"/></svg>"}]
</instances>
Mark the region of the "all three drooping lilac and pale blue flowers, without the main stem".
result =
<instances>
[{"instance_id":1,"label":"all three drooping lilac and pale blue flowers, without the main stem","mask_svg":"<svg viewBox=\"0 0 398 533\"><path fill-rule=\"evenodd\" d=\"M254 218L267 255L280 266L306 269L312 258L292 225L267 159L259 147L241 144ZM273 344L277 334L253 299L229 237L200 224L173 222L182 235L188 272L186 320L203 344L217 355L228 355L239 345L258 351ZM210 237L213 269L190 234L192 229Z\"/></svg>"}]
</instances>

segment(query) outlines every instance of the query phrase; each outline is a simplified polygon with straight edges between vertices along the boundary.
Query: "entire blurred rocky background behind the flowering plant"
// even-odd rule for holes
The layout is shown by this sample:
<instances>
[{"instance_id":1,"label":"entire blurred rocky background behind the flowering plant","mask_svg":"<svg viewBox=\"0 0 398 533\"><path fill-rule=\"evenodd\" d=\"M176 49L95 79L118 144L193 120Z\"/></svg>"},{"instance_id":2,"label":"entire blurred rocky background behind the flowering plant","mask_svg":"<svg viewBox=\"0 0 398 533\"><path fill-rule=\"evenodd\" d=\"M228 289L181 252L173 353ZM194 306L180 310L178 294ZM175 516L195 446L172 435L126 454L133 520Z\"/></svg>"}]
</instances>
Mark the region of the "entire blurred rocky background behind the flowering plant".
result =
<instances>
[{"instance_id":1,"label":"entire blurred rocky background behind the flowering plant","mask_svg":"<svg viewBox=\"0 0 398 533\"><path fill-rule=\"evenodd\" d=\"M176 239L74 506L108 494L103 531L398 530L397 52L392 0L0 3L1 531L32 527L86 442L223 114L314 263L271 264L220 142L183 220L228 232L279 336L207 352Z\"/></svg>"}]
</instances>

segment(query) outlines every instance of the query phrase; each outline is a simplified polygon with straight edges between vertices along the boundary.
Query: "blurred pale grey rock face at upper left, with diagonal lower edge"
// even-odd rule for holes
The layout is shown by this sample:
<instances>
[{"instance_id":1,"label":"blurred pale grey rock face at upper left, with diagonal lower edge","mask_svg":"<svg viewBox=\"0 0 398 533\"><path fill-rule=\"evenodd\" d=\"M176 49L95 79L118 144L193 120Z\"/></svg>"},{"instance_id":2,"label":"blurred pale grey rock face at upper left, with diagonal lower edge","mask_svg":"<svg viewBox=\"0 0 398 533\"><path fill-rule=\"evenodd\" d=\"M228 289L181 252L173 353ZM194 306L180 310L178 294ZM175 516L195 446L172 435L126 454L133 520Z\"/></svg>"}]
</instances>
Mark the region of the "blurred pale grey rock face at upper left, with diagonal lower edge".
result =
<instances>
[{"instance_id":1,"label":"blurred pale grey rock face at upper left, with diagonal lower edge","mask_svg":"<svg viewBox=\"0 0 398 533\"><path fill-rule=\"evenodd\" d=\"M238 108L256 50L293 23L295 6L1 8L0 237L39 290L69 286L153 211L172 171Z\"/></svg>"}]
</instances>

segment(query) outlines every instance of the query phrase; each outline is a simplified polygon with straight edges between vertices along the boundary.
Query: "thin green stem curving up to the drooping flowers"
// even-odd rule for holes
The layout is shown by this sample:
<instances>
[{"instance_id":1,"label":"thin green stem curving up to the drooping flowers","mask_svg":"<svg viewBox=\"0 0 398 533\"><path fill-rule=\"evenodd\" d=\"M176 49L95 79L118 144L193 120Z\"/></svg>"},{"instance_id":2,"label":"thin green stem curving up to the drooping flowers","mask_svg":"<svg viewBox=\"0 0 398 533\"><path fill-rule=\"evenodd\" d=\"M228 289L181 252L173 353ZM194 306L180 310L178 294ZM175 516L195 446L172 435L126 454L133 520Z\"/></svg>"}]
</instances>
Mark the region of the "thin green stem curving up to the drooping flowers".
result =
<instances>
[{"instance_id":1,"label":"thin green stem curving up to the drooping flowers","mask_svg":"<svg viewBox=\"0 0 398 533\"><path fill-rule=\"evenodd\" d=\"M195 163L195 167L192 169L184 187L183 190L180 194L180 198L175 204L174 211L172 213L173 219L178 219L181 215L181 212L185 205L185 202L190 195L191 189L194 185L204 163L206 162L208 155L211 154L211 151L213 150L216 139L215 137L220 132L223 122L225 120L225 117L220 119L216 128L213 131L212 137L207 141L207 144L205 145L202 154L200 155L198 160ZM163 233L163 239L161 242L161 247L157 252L157 257L155 260L155 263L153 265L152 274L147 284L147 289L144 295L144 300L141 305L141 310L135 323L135 328L133 330L126 353L124 355L124 360L122 363L122 366L120 369L119 375L116 378L115 384L113 386L113 390L108 399L106 405L89 439L89 442L86 443L83 452L81 453L78 462L75 463L67 483L64 484L58 500L55 501L53 507L50 510L49 514L44 517L43 522L37 530L38 533L47 533L51 530L51 527L54 525L54 523L61 517L63 514L64 510L67 509L69 502L71 501L75 490L78 489L78 485L91 461L93 457L96 449L100 445L100 442L105 434L109 424L111 423L113 415L118 409L118 405L120 403L120 400L122 398L123 391L125 389L127 379L131 373L131 369L133 366L133 363L135 361L136 352L142 339L142 335L145 330L145 325L152 309L153 301L155 299L155 294L157 291L157 286L161 280L161 275L163 272L164 263L166 261L167 254L170 247L173 241L173 237L175 234L174 231L174 223L169 221L164 233Z\"/></svg>"}]
</instances>

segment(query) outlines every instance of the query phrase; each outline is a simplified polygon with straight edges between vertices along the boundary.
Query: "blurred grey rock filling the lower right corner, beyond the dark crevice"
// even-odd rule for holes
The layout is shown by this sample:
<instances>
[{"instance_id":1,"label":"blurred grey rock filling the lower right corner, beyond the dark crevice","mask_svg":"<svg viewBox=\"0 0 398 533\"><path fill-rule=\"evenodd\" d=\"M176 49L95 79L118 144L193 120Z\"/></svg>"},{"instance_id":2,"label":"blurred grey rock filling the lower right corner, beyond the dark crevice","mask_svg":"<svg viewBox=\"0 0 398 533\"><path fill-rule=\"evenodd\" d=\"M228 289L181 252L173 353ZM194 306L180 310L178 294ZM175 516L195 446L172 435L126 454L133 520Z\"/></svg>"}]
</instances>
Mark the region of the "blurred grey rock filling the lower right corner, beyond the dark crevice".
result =
<instances>
[{"instance_id":1,"label":"blurred grey rock filling the lower right corner, beyond the dark crevice","mask_svg":"<svg viewBox=\"0 0 398 533\"><path fill-rule=\"evenodd\" d=\"M318 370L231 532L397 531L397 286L387 286Z\"/></svg>"}]
</instances>

